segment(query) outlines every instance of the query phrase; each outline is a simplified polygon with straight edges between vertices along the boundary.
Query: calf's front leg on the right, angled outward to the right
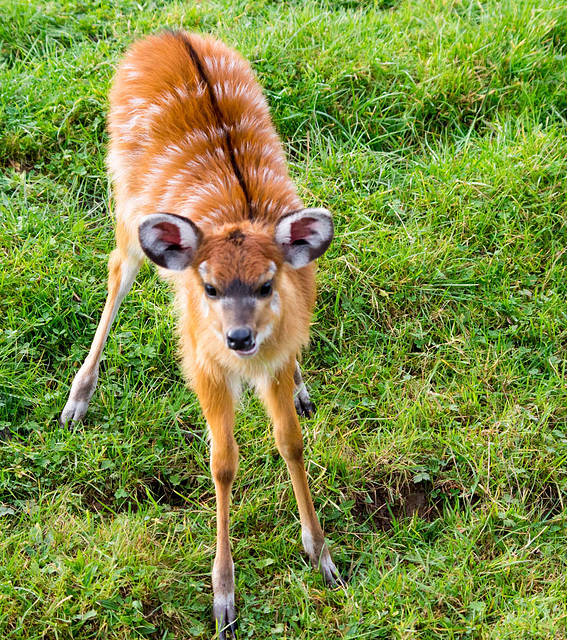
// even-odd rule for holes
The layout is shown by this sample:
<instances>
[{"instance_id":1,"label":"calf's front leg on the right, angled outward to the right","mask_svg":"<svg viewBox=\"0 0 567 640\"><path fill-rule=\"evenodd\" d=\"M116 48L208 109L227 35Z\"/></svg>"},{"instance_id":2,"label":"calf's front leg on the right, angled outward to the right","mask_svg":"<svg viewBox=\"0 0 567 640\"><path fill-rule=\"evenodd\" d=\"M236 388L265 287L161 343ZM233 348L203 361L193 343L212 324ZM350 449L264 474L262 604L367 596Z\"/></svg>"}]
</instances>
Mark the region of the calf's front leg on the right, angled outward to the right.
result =
<instances>
[{"instance_id":1,"label":"calf's front leg on the right, angled outward to the right","mask_svg":"<svg viewBox=\"0 0 567 640\"><path fill-rule=\"evenodd\" d=\"M344 584L325 544L325 536L307 483L303 463L303 437L293 402L295 365L292 361L276 379L270 379L265 387L261 387L260 393L274 421L276 444L291 476L301 520L303 548L327 584Z\"/></svg>"}]
</instances>

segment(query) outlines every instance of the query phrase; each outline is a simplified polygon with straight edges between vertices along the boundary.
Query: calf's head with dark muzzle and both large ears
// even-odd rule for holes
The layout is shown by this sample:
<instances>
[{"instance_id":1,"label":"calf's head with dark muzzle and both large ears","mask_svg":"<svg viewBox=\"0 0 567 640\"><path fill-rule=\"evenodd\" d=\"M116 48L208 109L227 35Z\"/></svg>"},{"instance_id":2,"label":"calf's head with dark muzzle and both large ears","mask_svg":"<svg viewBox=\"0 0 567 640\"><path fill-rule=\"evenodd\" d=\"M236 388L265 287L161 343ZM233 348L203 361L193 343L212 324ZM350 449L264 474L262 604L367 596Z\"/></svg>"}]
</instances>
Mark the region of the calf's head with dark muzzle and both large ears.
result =
<instances>
[{"instance_id":1,"label":"calf's head with dark muzzle and both large ears","mask_svg":"<svg viewBox=\"0 0 567 640\"><path fill-rule=\"evenodd\" d=\"M326 209L302 209L279 219L272 233L249 223L204 234L191 220L149 215L139 228L146 255L174 271L193 268L202 286L210 326L236 354L255 355L281 313L281 269L300 269L321 256L333 239Z\"/></svg>"}]
</instances>

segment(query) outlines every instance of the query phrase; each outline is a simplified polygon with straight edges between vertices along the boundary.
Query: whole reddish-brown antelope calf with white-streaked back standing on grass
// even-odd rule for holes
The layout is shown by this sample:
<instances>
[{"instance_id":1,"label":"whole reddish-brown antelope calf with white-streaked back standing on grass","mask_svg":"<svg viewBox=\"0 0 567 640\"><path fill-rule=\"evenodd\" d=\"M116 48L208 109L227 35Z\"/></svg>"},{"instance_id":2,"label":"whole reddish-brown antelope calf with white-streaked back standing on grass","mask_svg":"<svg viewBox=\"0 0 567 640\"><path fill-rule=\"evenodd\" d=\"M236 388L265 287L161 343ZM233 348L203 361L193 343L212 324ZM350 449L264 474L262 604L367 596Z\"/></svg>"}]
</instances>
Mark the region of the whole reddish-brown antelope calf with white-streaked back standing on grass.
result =
<instances>
[{"instance_id":1,"label":"whole reddish-brown antelope calf with white-streaked back standing on grass","mask_svg":"<svg viewBox=\"0 0 567 640\"><path fill-rule=\"evenodd\" d=\"M110 326L147 256L175 291L182 367L210 430L213 616L225 637L236 616L229 504L242 381L273 420L305 551L327 583L342 583L313 508L297 417L312 410L297 358L315 303L314 260L333 221L326 209L303 207L249 64L212 38L168 32L134 45L114 79L108 129L116 249L102 318L61 421L85 415Z\"/></svg>"}]
</instances>

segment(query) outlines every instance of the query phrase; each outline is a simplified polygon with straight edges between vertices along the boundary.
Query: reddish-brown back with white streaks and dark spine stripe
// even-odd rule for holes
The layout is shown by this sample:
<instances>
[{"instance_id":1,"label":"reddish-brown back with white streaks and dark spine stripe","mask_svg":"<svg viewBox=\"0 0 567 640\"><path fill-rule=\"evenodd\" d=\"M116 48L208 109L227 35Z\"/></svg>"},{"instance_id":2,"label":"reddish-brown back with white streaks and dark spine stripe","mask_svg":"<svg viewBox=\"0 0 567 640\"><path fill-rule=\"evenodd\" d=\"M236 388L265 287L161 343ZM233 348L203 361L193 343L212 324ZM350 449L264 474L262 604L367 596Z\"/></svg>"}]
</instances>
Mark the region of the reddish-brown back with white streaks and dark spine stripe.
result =
<instances>
[{"instance_id":1,"label":"reddish-brown back with white streaks and dark spine stripe","mask_svg":"<svg viewBox=\"0 0 567 640\"><path fill-rule=\"evenodd\" d=\"M108 164L131 229L158 211L203 230L271 226L301 207L254 73L222 42L173 32L141 41L110 102Z\"/></svg>"}]
</instances>

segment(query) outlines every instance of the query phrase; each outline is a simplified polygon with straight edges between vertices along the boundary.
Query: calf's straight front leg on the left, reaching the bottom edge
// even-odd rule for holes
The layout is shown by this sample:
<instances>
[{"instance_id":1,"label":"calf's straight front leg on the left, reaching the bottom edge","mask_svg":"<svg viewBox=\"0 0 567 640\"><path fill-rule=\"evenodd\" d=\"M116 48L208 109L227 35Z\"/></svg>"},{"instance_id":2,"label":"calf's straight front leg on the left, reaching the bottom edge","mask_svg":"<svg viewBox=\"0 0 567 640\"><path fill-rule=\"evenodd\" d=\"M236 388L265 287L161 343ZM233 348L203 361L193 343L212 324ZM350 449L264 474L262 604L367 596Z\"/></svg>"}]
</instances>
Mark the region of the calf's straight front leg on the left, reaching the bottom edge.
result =
<instances>
[{"instance_id":1,"label":"calf's straight front leg on the left, reaching the bottom edge","mask_svg":"<svg viewBox=\"0 0 567 640\"><path fill-rule=\"evenodd\" d=\"M232 483L238 467L234 439L234 397L222 376L211 372L193 376L194 387L211 434L211 472L217 498L217 552L213 564L213 619L224 640L234 635L234 562L230 551L229 509Z\"/></svg>"}]
</instances>

